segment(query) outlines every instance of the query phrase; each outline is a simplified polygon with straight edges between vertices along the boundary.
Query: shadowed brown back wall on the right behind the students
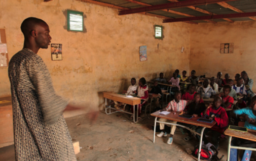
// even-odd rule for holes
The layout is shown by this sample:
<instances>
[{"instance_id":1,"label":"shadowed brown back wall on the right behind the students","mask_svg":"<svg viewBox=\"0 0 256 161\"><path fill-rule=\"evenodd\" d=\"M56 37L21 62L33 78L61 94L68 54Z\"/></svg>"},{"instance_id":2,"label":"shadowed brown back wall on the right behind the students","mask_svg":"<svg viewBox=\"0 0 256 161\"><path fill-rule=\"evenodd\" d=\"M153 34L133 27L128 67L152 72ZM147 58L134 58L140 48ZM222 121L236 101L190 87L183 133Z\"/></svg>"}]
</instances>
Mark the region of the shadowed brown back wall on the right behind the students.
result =
<instances>
[{"instance_id":1,"label":"shadowed brown back wall on the right behind the students","mask_svg":"<svg viewBox=\"0 0 256 161\"><path fill-rule=\"evenodd\" d=\"M197 75L207 77L223 72L235 79L236 73L246 71L248 76L256 80L256 22L223 22L217 24L201 23L192 25L190 41L190 70L195 69ZM221 43L234 43L234 53L220 53ZM252 90L256 92L254 84Z\"/></svg>"}]
</instances>

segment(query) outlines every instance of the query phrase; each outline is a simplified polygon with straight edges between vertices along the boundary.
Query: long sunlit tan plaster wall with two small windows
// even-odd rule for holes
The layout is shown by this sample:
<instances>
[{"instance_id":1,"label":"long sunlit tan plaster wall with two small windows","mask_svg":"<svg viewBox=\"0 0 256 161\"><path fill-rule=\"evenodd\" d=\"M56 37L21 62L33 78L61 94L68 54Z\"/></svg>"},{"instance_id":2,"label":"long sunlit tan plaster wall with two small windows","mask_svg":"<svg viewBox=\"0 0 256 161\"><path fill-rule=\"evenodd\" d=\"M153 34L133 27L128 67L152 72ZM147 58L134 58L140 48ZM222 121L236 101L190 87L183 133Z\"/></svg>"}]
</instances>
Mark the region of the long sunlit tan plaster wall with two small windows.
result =
<instances>
[{"instance_id":1,"label":"long sunlit tan plaster wall with two small windows","mask_svg":"<svg viewBox=\"0 0 256 161\"><path fill-rule=\"evenodd\" d=\"M85 32L66 30L66 10L84 13ZM103 91L121 92L130 79L151 80L163 72L189 70L190 24L133 14L118 16L116 9L80 1L2 0L0 28L6 28L9 59L23 47L20 31L27 17L45 20L52 43L61 43L63 61L52 61L50 48L40 49L56 92L76 103L103 109ZM154 38L154 25L163 25L164 39ZM147 45L148 61L139 61L139 46ZM180 52L184 46L183 53ZM0 68L0 95L10 93L8 68Z\"/></svg>"}]
</instances>

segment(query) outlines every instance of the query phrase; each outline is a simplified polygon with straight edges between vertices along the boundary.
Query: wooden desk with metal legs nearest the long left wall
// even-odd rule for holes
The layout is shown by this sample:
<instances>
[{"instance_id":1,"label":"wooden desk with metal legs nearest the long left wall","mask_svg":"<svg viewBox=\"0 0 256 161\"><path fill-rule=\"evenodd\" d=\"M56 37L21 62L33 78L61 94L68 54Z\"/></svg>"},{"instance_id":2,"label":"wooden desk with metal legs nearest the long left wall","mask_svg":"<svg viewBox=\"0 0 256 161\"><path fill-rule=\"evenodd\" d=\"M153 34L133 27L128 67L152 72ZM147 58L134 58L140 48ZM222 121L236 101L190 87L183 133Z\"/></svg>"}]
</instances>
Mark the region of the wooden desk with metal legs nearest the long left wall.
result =
<instances>
[{"instance_id":1,"label":"wooden desk with metal legs nearest the long left wall","mask_svg":"<svg viewBox=\"0 0 256 161\"><path fill-rule=\"evenodd\" d=\"M138 122L138 110L137 110L137 118L136 118L136 121L135 121L135 105L137 105L137 109L138 109L138 106L141 103L141 101L140 101L141 99L140 98L137 98L137 97L128 98L128 97L126 97L126 95L117 94L115 92L103 92L103 97L105 98L105 107L106 107L105 108L105 113L107 115L118 113L118 112L123 112L123 113L127 113L127 114L133 115L133 122L134 123ZM107 99L109 99L109 102L111 100L114 100L114 101L118 101L118 102L122 102L122 103L133 105L133 113L129 113L129 112L124 111L124 110L117 110L115 108L111 108L111 106L107 105L107 103L106 103ZM109 112L107 112L107 110L109 110ZM115 112L111 112L111 110L115 110ZM143 120L143 119L141 119L141 120Z\"/></svg>"}]
</instances>

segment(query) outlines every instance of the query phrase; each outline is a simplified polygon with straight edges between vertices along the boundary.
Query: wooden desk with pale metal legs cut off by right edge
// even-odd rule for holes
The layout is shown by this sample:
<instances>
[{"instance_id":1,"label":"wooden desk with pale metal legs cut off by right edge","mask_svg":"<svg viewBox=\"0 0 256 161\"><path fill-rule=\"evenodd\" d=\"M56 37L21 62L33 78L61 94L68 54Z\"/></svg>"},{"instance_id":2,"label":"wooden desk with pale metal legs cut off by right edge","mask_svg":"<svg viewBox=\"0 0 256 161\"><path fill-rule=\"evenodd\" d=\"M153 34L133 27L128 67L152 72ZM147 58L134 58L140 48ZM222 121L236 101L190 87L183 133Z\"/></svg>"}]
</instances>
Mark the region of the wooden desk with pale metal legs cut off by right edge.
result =
<instances>
[{"instance_id":1,"label":"wooden desk with pale metal legs cut off by right edge","mask_svg":"<svg viewBox=\"0 0 256 161\"><path fill-rule=\"evenodd\" d=\"M254 150L254 151L256 151L256 148L232 146L231 145L232 137L237 137L237 138L251 140L251 141L255 141L256 142L256 130L248 129L247 132L242 132L242 131L227 129L224 132L224 134L229 136L228 157L227 157L228 161L230 160L230 149L231 148L234 148L234 149L244 149L244 150Z\"/></svg>"}]
</instances>

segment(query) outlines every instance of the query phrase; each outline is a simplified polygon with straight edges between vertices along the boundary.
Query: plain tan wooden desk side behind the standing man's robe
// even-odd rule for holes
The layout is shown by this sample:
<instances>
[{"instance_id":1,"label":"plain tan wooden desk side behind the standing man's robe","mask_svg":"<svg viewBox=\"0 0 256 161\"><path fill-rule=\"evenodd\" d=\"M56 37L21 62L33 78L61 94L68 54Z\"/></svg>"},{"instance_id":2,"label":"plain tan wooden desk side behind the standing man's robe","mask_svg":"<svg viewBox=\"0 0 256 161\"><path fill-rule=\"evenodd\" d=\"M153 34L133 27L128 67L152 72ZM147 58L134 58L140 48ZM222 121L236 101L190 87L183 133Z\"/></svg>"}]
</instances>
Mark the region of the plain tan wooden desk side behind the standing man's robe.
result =
<instances>
[{"instance_id":1,"label":"plain tan wooden desk side behind the standing man's robe","mask_svg":"<svg viewBox=\"0 0 256 161\"><path fill-rule=\"evenodd\" d=\"M0 97L0 148L14 144L11 96Z\"/></svg>"}]
</instances>

